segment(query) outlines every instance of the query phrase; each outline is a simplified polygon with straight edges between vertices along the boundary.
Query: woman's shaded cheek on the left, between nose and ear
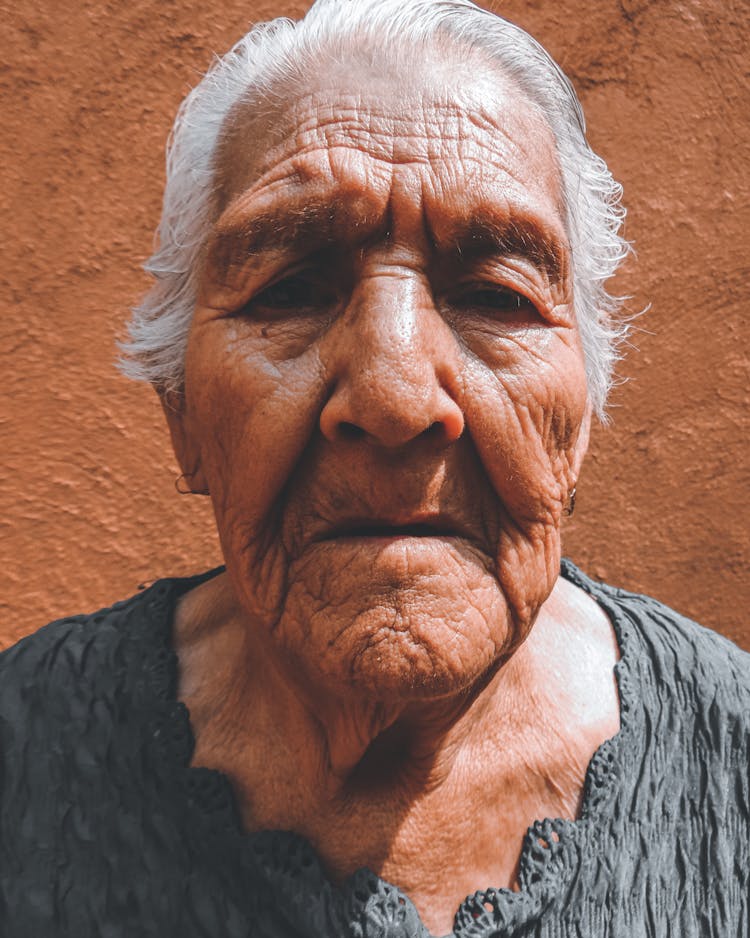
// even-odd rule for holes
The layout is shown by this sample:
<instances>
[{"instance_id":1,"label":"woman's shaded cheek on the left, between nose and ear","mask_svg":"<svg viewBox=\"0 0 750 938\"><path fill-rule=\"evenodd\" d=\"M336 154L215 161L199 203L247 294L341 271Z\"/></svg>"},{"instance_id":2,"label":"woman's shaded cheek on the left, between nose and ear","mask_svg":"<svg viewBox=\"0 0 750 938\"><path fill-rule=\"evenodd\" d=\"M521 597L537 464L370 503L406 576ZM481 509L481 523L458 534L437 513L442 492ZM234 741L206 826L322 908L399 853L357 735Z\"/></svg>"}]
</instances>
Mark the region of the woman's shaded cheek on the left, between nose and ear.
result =
<instances>
[{"instance_id":1,"label":"woman's shaded cheek on the left, between nose and ear","mask_svg":"<svg viewBox=\"0 0 750 938\"><path fill-rule=\"evenodd\" d=\"M264 614L278 605L286 575L279 502L326 390L314 345L293 358L278 348L268 336L237 337L216 322L191 336L186 360L191 432L227 569L248 605L262 604Z\"/></svg>"}]
</instances>

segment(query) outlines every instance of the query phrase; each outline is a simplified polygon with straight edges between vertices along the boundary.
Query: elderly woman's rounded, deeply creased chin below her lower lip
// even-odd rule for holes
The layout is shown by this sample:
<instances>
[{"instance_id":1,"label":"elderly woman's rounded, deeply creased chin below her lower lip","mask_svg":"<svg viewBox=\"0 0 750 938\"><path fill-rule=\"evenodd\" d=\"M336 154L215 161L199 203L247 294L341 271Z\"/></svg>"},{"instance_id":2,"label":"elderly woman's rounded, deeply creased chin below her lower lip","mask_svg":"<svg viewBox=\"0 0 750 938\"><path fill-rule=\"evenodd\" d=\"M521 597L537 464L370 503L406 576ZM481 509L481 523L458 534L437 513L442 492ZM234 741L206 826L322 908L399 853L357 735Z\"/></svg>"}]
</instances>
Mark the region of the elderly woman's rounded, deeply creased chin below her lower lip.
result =
<instances>
[{"instance_id":1,"label":"elderly woman's rounded, deeply creased chin below her lower lip","mask_svg":"<svg viewBox=\"0 0 750 938\"><path fill-rule=\"evenodd\" d=\"M467 588L450 576L419 578L385 590L371 580L356 595L330 595L312 615L309 596L292 589L274 638L307 682L334 694L386 702L459 694L512 641L499 584L486 572L481 579Z\"/></svg>"}]
</instances>

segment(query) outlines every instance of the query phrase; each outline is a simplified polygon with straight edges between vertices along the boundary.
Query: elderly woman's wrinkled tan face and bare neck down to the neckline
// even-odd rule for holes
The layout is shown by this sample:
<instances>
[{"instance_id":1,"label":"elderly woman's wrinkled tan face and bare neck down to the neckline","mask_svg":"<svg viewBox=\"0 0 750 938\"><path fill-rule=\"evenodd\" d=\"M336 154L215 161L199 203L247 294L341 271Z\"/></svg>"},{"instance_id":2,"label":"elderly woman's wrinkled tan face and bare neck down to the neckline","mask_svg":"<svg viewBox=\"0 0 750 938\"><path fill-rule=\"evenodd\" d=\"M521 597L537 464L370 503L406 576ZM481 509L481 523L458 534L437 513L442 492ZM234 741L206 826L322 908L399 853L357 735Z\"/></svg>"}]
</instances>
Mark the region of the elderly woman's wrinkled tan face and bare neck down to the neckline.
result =
<instances>
[{"instance_id":1,"label":"elderly woman's wrinkled tan face and bare neck down to the neckline","mask_svg":"<svg viewBox=\"0 0 750 938\"><path fill-rule=\"evenodd\" d=\"M601 614L556 587L590 408L552 136L488 70L434 71L332 75L263 119L233 115L184 397L165 411L183 470L210 491L228 571L178 621L196 758L253 792L248 826L293 827L334 875L367 863L417 901L414 845L446 813L425 792L473 798L481 825L505 791L519 833L496 858L467 848L455 882L435 886L445 858L420 854L433 864L423 914L447 931L483 885L472 876L512 882L527 824L575 816L587 760L616 729L616 650ZM536 790L499 754L535 778L532 737L520 763L509 740L531 732L518 714L534 712L535 655L572 641L571 609L604 636L607 664L594 691L569 683L606 698L608 717L572 727L583 743ZM564 722L573 704L550 706ZM472 721L498 719L503 741L477 773L492 797L477 800L445 754ZM258 742L271 723L273 753ZM559 801L540 800L555 785ZM368 847L370 811L390 839ZM327 843L337 818L356 820L353 841Z\"/></svg>"}]
</instances>

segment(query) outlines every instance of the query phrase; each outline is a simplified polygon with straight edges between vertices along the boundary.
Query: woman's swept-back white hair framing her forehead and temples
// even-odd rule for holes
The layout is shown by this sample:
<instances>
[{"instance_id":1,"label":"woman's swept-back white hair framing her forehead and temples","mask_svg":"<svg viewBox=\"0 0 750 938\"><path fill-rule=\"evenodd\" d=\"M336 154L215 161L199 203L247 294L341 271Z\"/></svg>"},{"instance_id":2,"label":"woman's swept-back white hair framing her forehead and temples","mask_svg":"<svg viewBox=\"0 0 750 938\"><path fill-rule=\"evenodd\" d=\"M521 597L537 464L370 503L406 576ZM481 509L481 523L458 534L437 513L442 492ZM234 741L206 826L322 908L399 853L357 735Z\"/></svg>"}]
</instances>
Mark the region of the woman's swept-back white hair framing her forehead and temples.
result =
<instances>
[{"instance_id":1,"label":"woman's swept-back white hair framing her forehead and temples","mask_svg":"<svg viewBox=\"0 0 750 938\"><path fill-rule=\"evenodd\" d=\"M390 52L419 45L476 50L515 81L552 130L589 396L604 416L626 331L616 315L621 300L605 288L628 251L619 235L622 188L589 147L580 102L559 66L520 27L470 0L317 0L302 20L255 26L215 60L183 101L167 143L158 247L145 264L156 282L133 310L130 340L122 345L125 374L162 391L182 388L200 254L215 220L215 154L232 108L269 100L280 83L314 76L321 56L345 60L353 47Z\"/></svg>"}]
</instances>

